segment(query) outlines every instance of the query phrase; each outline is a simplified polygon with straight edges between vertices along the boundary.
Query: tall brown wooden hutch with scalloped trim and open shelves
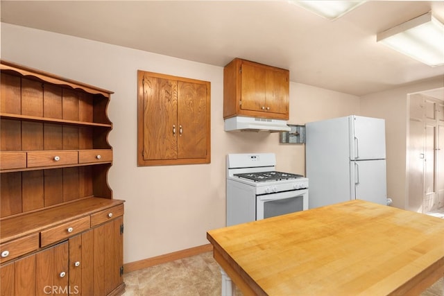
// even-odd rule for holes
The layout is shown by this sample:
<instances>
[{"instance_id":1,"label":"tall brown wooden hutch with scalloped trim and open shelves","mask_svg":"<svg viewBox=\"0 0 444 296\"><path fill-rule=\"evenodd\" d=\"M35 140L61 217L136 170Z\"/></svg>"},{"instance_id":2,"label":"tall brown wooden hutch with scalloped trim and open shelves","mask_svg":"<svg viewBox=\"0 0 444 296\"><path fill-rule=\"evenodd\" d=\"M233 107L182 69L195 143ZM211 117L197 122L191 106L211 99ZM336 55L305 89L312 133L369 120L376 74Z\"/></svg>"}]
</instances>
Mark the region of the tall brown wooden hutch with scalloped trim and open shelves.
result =
<instances>
[{"instance_id":1,"label":"tall brown wooden hutch with scalloped trim and open shelves","mask_svg":"<svg viewBox=\"0 0 444 296\"><path fill-rule=\"evenodd\" d=\"M112 92L1 61L0 295L123 293Z\"/></svg>"}]
</instances>

